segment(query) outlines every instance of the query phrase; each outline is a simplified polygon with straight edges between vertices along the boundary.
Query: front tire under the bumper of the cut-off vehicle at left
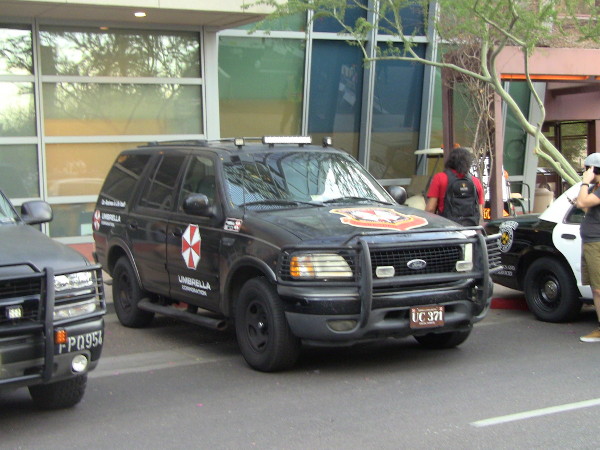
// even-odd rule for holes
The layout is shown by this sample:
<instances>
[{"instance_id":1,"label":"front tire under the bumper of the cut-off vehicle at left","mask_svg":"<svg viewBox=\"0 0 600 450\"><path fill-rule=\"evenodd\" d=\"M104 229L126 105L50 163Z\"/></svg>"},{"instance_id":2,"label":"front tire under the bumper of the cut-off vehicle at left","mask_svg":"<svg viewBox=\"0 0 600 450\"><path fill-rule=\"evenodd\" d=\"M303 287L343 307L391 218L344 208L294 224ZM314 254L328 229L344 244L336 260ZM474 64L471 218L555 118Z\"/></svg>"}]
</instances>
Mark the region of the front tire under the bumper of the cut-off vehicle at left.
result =
<instances>
[{"instance_id":1,"label":"front tire under the bumper of the cut-off vehicle at left","mask_svg":"<svg viewBox=\"0 0 600 450\"><path fill-rule=\"evenodd\" d=\"M55 383L29 386L29 394L38 408L70 408L81 401L86 384L87 375L78 375Z\"/></svg>"}]
</instances>

